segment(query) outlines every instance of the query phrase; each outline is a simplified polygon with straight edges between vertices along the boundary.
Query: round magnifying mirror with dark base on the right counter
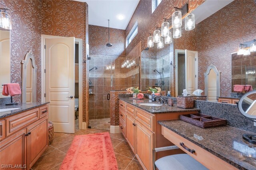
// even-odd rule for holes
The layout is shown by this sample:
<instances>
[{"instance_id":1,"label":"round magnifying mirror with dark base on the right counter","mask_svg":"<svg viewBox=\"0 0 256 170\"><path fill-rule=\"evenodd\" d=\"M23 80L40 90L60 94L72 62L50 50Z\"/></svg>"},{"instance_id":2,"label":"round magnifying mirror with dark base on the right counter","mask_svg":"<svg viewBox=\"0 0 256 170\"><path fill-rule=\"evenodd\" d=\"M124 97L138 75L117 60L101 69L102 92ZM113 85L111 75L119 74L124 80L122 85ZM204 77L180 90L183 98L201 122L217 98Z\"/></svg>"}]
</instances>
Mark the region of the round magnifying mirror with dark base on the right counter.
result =
<instances>
[{"instance_id":1,"label":"round magnifying mirror with dark base on the right counter","mask_svg":"<svg viewBox=\"0 0 256 170\"><path fill-rule=\"evenodd\" d=\"M256 90L243 95L238 102L238 110L250 121L256 122ZM256 136L243 134L243 139L256 144Z\"/></svg>"}]
</instances>

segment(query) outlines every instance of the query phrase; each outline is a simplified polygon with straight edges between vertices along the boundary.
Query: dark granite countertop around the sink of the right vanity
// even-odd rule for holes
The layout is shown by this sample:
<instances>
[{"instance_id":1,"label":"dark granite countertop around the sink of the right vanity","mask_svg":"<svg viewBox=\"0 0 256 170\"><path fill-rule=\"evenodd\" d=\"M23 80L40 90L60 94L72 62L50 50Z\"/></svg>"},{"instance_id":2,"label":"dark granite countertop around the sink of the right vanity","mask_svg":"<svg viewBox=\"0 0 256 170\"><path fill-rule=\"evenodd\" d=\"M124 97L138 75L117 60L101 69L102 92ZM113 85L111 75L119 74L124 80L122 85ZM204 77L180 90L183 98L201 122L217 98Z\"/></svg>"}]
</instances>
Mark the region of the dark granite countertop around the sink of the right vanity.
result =
<instances>
[{"instance_id":1,"label":"dark granite countertop around the sink of the right vanity","mask_svg":"<svg viewBox=\"0 0 256 170\"><path fill-rule=\"evenodd\" d=\"M157 114L157 113L177 113L177 112L191 112L191 111L200 111L200 109L182 109L177 107L177 105L169 106L163 104L162 106L143 106L140 105L139 103L150 103L151 99L142 99L142 100L136 100L136 99L129 99L128 97L124 98L119 98L120 100L129 103L131 105L134 105L144 111L147 111L152 114ZM154 102L156 103L156 102Z\"/></svg>"}]
</instances>

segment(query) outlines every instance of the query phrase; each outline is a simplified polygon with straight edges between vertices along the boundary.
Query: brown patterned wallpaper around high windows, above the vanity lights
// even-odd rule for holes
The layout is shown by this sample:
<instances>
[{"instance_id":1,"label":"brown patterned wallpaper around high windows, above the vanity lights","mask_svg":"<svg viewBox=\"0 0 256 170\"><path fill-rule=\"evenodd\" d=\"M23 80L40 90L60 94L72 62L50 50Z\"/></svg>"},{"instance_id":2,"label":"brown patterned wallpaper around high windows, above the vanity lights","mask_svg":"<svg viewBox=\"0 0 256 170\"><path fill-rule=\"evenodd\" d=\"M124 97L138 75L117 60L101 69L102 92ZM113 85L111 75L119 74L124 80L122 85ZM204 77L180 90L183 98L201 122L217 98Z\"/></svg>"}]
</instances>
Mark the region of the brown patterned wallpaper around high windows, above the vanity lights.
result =
<instances>
[{"instance_id":1,"label":"brown patterned wallpaper around high windows, above the vanity lights","mask_svg":"<svg viewBox=\"0 0 256 170\"><path fill-rule=\"evenodd\" d=\"M133 47L141 41L141 49L145 49L147 46L147 38L149 33L156 30L156 26L160 27L163 18L170 18L174 12L174 7L182 7L188 3L189 11L194 10L204 0L162 0L156 10L152 13L152 1L151 0L140 0L134 14L126 28L126 36L138 20L138 34L132 40L132 42L126 48L126 53L129 53Z\"/></svg>"}]
</instances>

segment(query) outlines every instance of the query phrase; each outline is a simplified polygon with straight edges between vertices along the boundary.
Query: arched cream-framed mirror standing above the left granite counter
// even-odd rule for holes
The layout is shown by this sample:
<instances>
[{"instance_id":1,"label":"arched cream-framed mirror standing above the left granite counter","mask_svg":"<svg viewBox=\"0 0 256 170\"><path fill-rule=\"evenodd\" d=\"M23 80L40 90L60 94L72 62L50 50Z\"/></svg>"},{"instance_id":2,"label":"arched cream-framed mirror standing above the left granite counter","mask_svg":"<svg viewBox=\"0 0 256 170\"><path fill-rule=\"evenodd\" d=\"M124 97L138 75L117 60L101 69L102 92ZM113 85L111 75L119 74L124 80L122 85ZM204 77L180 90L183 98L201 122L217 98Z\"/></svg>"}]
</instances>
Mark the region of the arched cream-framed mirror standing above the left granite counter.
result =
<instances>
[{"instance_id":1,"label":"arched cream-framed mirror standing above the left granite counter","mask_svg":"<svg viewBox=\"0 0 256 170\"><path fill-rule=\"evenodd\" d=\"M22 60L22 103L36 102L36 62L29 51Z\"/></svg>"}]
</instances>

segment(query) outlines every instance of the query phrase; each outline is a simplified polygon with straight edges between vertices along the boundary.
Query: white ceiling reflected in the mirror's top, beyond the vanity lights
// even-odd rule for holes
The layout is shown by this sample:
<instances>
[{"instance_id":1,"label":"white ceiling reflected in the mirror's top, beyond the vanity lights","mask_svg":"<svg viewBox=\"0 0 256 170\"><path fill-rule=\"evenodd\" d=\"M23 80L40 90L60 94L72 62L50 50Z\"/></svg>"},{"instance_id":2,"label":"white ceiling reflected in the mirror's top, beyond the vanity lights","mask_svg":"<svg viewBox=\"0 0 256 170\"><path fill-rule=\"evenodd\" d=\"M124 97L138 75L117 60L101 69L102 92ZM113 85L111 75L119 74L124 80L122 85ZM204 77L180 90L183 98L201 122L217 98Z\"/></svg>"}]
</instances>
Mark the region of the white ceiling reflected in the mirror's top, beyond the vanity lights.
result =
<instances>
[{"instance_id":1,"label":"white ceiling reflected in the mirror's top, beyond the vanity lights","mask_svg":"<svg viewBox=\"0 0 256 170\"><path fill-rule=\"evenodd\" d=\"M230 4L234 0L206 0L198 6L192 13L195 15L195 23L198 24L208 18L224 6Z\"/></svg>"}]
</instances>

